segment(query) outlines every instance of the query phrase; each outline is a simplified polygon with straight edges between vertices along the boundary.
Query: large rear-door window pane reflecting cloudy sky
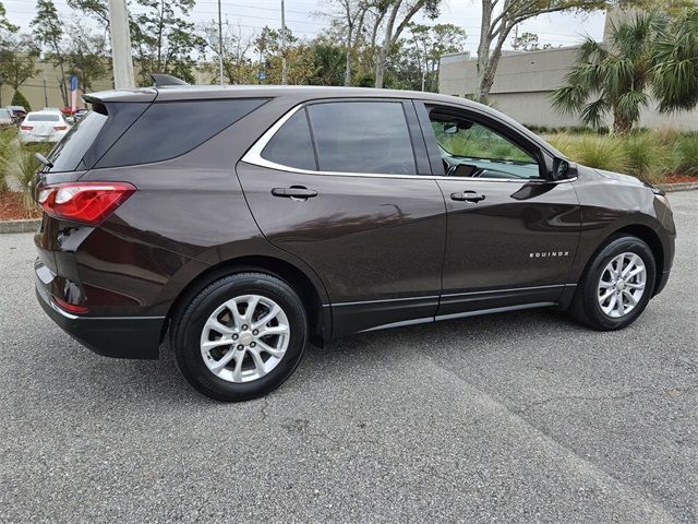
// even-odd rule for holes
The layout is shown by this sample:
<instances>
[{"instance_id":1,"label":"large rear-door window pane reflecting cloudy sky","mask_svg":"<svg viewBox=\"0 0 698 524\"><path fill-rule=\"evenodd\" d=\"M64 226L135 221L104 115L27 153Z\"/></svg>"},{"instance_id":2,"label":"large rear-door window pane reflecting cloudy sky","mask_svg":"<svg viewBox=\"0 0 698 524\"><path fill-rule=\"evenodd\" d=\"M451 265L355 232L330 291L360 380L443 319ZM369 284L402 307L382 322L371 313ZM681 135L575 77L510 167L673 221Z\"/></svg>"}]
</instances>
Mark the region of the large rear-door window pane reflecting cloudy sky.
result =
<instances>
[{"instance_id":1,"label":"large rear-door window pane reflecting cloudy sky","mask_svg":"<svg viewBox=\"0 0 698 524\"><path fill-rule=\"evenodd\" d=\"M414 175L400 102L333 102L308 108L321 171Z\"/></svg>"}]
</instances>

